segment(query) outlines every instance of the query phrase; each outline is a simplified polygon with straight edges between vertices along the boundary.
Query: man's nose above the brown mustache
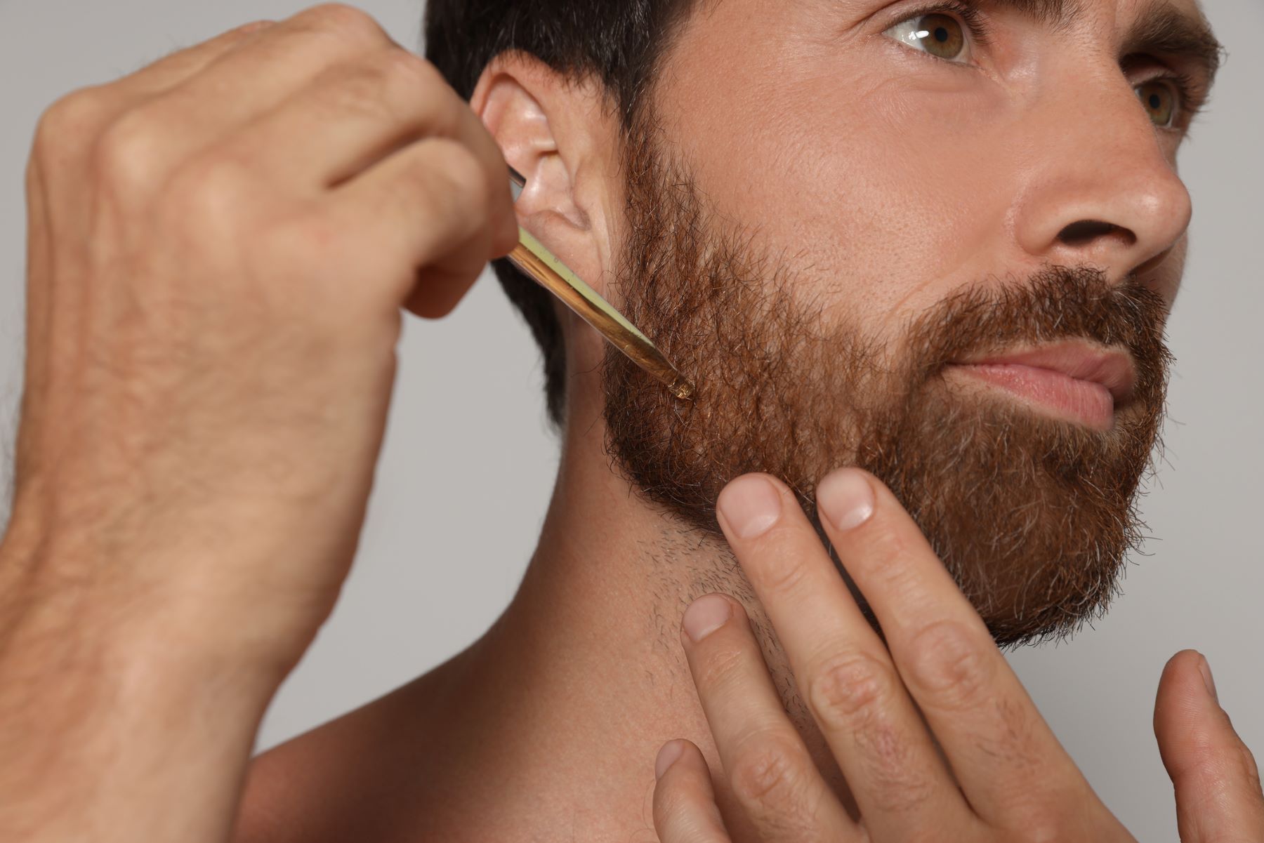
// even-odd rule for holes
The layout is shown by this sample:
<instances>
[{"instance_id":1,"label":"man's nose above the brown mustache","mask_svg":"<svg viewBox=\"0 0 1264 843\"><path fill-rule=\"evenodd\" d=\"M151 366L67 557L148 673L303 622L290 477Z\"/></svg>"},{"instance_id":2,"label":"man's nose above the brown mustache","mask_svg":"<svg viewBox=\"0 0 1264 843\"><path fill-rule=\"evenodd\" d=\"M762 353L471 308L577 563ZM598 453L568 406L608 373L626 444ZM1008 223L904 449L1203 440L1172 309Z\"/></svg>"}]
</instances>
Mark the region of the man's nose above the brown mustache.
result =
<instances>
[{"instance_id":1,"label":"man's nose above the brown mustache","mask_svg":"<svg viewBox=\"0 0 1264 843\"><path fill-rule=\"evenodd\" d=\"M1092 265L1111 279L1160 264L1184 235L1189 192L1119 68L1049 102L1015 207L1019 245L1043 263Z\"/></svg>"}]
</instances>

